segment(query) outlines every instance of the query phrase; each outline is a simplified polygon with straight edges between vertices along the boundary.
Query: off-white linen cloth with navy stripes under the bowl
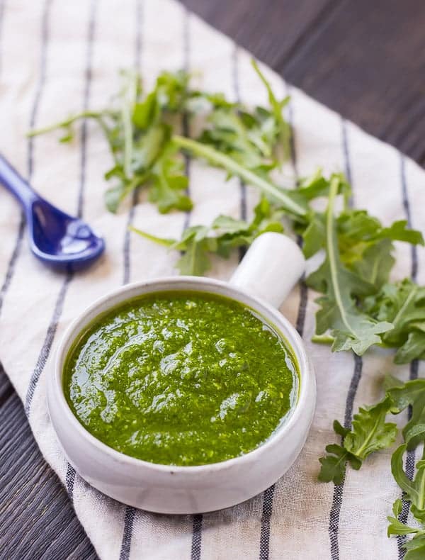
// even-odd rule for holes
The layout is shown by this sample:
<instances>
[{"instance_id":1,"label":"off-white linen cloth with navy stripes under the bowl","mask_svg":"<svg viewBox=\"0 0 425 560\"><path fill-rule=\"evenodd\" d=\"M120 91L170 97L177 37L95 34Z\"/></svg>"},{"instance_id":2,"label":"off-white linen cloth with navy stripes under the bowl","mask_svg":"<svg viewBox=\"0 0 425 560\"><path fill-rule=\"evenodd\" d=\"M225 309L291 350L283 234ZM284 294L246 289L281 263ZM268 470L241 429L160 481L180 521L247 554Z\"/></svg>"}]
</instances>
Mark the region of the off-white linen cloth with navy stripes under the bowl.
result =
<instances>
[{"instance_id":1,"label":"off-white linen cloth with navy stripes under the bowl","mask_svg":"<svg viewBox=\"0 0 425 560\"><path fill-rule=\"evenodd\" d=\"M72 145L57 135L26 140L28 128L81 111L102 108L117 86L118 69L138 65L147 86L164 68L200 70L200 82L246 103L266 103L249 54L171 0L15 0L4 6L0 36L1 152L40 194L85 220L105 236L107 252L88 271L66 279L45 269L28 250L21 213L0 192L0 360L26 406L42 454L67 488L79 520L102 559L396 559L397 539L386 537L386 516L399 489L390 454L375 454L344 484L317 482L325 444L335 440L334 418L349 424L353 410L380 396L380 376L409 377L392 364L391 352L331 354L314 345L314 294L295 289L282 311L297 325L317 371L317 411L299 459L263 495L205 515L154 515L117 503L88 486L67 464L45 403L47 371L69 322L98 296L123 281L173 274L178 255L129 236L127 225L165 237L181 233L186 215L158 215L144 196L129 213L109 214L103 204L103 172L110 165L101 133L86 125ZM371 138L266 67L278 94L291 95L295 169L343 170L354 203L385 222L408 218L424 229L425 173L394 148ZM192 225L220 212L248 212L257 194L239 181L191 163ZM424 282L424 251L397 247L397 276ZM227 279L237 259L215 263L212 276ZM419 366L421 374L423 365Z\"/></svg>"}]
</instances>

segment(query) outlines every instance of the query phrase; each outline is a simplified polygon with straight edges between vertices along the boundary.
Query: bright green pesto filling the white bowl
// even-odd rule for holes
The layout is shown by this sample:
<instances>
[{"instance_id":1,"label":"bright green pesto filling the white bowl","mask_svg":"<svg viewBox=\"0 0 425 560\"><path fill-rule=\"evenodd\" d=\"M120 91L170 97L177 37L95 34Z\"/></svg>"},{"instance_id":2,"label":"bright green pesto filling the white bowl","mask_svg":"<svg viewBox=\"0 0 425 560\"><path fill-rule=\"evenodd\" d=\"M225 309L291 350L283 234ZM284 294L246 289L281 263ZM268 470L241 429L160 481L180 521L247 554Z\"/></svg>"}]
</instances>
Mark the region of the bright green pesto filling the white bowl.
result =
<instances>
[{"instance_id":1,"label":"bright green pesto filling the white bowl","mask_svg":"<svg viewBox=\"0 0 425 560\"><path fill-rule=\"evenodd\" d=\"M160 464L225 461L259 447L297 399L297 362L253 310L167 291L99 315L70 349L64 393L113 449Z\"/></svg>"}]
</instances>

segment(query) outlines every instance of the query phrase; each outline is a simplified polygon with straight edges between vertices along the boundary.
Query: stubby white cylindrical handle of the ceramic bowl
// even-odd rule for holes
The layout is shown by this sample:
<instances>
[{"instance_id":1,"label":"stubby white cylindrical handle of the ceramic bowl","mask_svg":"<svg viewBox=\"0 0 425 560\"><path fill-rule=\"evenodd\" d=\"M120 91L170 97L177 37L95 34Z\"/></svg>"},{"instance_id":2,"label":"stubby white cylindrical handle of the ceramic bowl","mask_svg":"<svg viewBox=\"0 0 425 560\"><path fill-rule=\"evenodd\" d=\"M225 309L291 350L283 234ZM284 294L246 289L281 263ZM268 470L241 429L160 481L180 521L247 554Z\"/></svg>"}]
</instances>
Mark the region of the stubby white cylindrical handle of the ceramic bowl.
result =
<instances>
[{"instance_id":1,"label":"stubby white cylindrical handle of the ceramic bowl","mask_svg":"<svg viewBox=\"0 0 425 560\"><path fill-rule=\"evenodd\" d=\"M249 247L229 282L279 307L304 271L305 258L295 241L266 232Z\"/></svg>"}]
</instances>

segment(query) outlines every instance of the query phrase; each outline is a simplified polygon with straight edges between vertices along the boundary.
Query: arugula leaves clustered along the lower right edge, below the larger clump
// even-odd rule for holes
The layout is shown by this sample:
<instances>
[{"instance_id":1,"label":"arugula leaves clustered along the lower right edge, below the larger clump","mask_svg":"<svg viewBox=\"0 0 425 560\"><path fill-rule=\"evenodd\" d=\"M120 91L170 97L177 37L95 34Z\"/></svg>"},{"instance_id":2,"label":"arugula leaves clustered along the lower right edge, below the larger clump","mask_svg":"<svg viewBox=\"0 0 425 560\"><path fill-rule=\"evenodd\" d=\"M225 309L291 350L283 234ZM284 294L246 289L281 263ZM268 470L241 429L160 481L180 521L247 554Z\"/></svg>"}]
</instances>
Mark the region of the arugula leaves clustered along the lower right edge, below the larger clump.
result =
<instances>
[{"instance_id":1,"label":"arugula leaves clustered along the lower right edge, below the larger clump","mask_svg":"<svg viewBox=\"0 0 425 560\"><path fill-rule=\"evenodd\" d=\"M413 480L404 472L404 453L425 439L425 379L402 383L395 377L387 376L385 386L385 398L374 406L360 408L354 416L352 430L334 422L334 430L343 437L343 442L327 446L327 455L319 459L322 464L319 480L339 484L344 479L347 463L358 470L368 454L390 447L395 441L397 427L385 422L386 415L399 414L410 406L411 414L402 430L405 443L392 454L391 471L404 493L404 500L409 503L412 515L422 527L409 527L399 520L402 500L397 499L392 506L393 515L388 517L390 525L387 532L389 537L413 534L412 540L403 544L407 551L405 558L419 560L424 558L425 553L425 449L416 463Z\"/></svg>"}]
</instances>

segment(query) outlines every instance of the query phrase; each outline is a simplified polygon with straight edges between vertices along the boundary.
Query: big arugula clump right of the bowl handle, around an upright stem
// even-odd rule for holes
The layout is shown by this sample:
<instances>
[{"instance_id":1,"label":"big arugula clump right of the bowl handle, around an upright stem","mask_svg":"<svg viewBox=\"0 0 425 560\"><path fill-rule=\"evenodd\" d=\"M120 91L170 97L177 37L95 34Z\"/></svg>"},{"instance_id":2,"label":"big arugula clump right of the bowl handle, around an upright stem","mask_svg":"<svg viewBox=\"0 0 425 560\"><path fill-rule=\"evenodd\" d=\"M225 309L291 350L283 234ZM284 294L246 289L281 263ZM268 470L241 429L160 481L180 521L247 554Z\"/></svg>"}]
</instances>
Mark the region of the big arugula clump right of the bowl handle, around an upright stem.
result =
<instances>
[{"instance_id":1,"label":"big arugula clump right of the bowl handle, around an upright stem","mask_svg":"<svg viewBox=\"0 0 425 560\"><path fill-rule=\"evenodd\" d=\"M350 194L343 176L333 174L326 179L320 172L302 179L295 191L295 200L307 206L304 216L293 218L294 228L302 236L305 257L320 250L325 252L322 265L307 278L310 288L324 293L317 300L320 309L313 340L330 342L336 351L353 349L357 354L363 354L373 344L405 345L396 361L406 362L425 352L421 337L421 330L425 330L425 300L420 308L425 292L419 291L412 298L416 313L412 313L412 306L404 306L402 317L397 318L399 309L395 306L395 312L389 313L382 305L380 290L386 293L385 284L395 263L393 242L423 245L424 238L419 231L407 228L406 220L386 227L367 211L350 208ZM344 199L339 213L335 211L338 195ZM310 202L323 197L328 201L327 210L314 211ZM391 290L395 290L392 285ZM402 293L399 300L404 302L406 297ZM392 325L394 320L396 325Z\"/></svg>"}]
</instances>

